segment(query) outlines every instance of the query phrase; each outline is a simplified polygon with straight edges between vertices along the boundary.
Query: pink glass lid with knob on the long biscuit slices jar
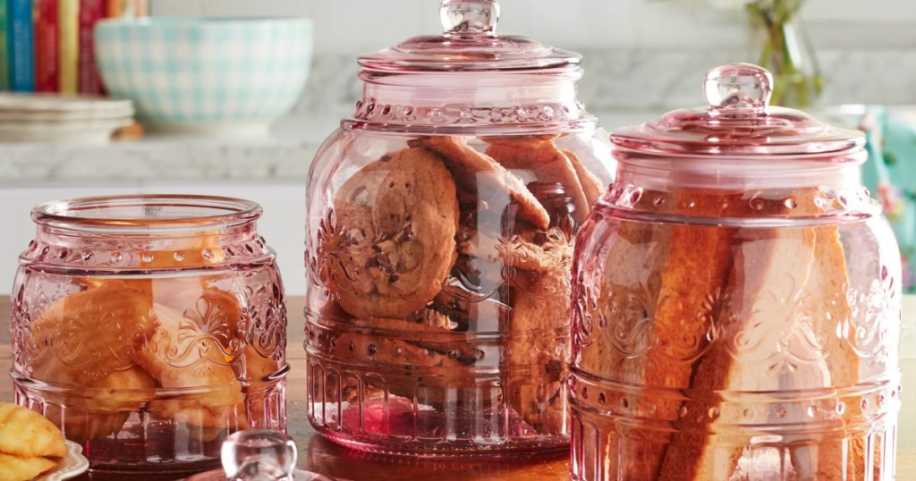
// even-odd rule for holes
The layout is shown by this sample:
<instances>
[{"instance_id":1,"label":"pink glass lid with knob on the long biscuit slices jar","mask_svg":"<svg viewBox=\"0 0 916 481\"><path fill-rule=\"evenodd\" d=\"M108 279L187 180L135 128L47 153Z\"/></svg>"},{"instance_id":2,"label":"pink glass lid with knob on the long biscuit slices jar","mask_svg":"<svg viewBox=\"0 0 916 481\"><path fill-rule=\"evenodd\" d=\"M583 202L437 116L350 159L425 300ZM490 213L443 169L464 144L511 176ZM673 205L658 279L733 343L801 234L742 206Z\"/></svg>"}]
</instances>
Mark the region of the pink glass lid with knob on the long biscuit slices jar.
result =
<instances>
[{"instance_id":1,"label":"pink glass lid with knob on the long biscuit slices jar","mask_svg":"<svg viewBox=\"0 0 916 481\"><path fill-rule=\"evenodd\" d=\"M769 106L773 78L757 65L732 63L706 73L706 107L672 111L616 130L611 141L659 155L804 156L861 149L865 136L801 111Z\"/></svg>"}]
</instances>

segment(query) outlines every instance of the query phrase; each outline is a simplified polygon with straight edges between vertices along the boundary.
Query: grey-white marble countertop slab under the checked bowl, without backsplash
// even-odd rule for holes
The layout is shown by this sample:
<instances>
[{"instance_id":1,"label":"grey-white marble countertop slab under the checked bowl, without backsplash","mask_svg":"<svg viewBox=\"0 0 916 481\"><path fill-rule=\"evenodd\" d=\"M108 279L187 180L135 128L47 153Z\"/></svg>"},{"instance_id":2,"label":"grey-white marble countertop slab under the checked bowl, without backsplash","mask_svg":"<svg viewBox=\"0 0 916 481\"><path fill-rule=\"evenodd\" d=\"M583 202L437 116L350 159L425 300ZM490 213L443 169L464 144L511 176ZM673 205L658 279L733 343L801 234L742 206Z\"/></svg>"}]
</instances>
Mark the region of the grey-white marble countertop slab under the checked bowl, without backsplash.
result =
<instances>
[{"instance_id":1,"label":"grey-white marble countertop slab under the checked bowl, without backsplash","mask_svg":"<svg viewBox=\"0 0 916 481\"><path fill-rule=\"evenodd\" d=\"M0 144L0 186L157 180L295 180L306 178L325 137L351 113L289 115L261 137L187 137L150 133L104 145ZM644 122L659 111L598 113L602 126Z\"/></svg>"}]
</instances>

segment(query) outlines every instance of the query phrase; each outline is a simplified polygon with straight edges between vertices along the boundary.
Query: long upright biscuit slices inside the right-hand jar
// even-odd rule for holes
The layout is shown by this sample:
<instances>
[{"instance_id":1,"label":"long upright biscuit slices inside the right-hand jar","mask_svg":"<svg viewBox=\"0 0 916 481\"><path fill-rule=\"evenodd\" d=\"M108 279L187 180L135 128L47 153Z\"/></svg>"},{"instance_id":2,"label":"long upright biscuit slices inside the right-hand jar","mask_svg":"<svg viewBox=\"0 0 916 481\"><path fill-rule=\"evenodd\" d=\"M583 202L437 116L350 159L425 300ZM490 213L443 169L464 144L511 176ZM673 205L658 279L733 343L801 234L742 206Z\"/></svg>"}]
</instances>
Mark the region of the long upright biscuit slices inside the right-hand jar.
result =
<instances>
[{"instance_id":1,"label":"long upright biscuit slices inside the right-hand jar","mask_svg":"<svg viewBox=\"0 0 916 481\"><path fill-rule=\"evenodd\" d=\"M743 192L646 189L642 194L635 209L649 210L650 202L655 202L660 206L655 207L657 212L674 215L738 218L789 215L793 210L797 215L823 213L816 202L823 194L816 188L786 191L784 197L758 198L758 202L747 202ZM797 203L787 205L781 201L784 198ZM681 430L651 431L616 420L599 421L596 425L603 434L597 436L595 449L611 460L606 473L622 473L627 479L725 479L741 469L747 446L754 443L750 434L735 426L773 421L769 409L749 402L746 408L736 409L740 402L725 397L657 395L666 389L802 392L812 385L856 382L860 363L856 352L830 342L837 329L831 320L850 318L850 307L836 301L844 299L850 282L836 225L738 229L625 222L603 246L608 246L604 257L596 262L605 266L604 271L576 272L588 287L574 299L573 322L582 326L584 319L613 314L615 333L629 335L592 336L579 327L575 335L588 339L580 340L583 348L576 356L576 367L586 373L607 373L619 386L653 389L653 395L635 396L638 391L632 389L603 396L607 406L651 413L651 419ZM586 250L592 247L594 243L583 244ZM646 272L652 273L648 281L640 281ZM800 314L804 322L790 328L776 323L791 322ZM786 364L769 355L771 346L779 347ZM839 394L812 400L808 411L800 411L792 409L793 401L787 397L777 419L803 426L812 422L811 412L821 410L827 414L819 422L831 432L842 433L862 416L862 410L849 403L834 415L838 399ZM630 430L627 435L632 433L634 441L618 444L618 430ZM793 439L789 429L781 436L784 442ZM824 437L813 446L792 443L785 460L769 461L791 465L800 479L864 479L867 449L862 438L843 440L841 434ZM638 456L627 455L637 452Z\"/></svg>"}]
</instances>

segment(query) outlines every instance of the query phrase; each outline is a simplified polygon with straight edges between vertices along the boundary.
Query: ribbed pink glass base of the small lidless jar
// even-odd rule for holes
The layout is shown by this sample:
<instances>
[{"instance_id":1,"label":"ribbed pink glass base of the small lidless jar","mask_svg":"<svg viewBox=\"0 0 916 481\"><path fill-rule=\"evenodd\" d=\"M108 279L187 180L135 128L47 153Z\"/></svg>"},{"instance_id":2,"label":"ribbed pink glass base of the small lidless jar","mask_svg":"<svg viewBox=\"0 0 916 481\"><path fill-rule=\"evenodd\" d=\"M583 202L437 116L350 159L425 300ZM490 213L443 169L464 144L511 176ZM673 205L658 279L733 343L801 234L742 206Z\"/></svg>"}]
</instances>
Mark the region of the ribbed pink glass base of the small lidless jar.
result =
<instances>
[{"instance_id":1,"label":"ribbed pink glass base of the small lidless jar","mask_svg":"<svg viewBox=\"0 0 916 481\"><path fill-rule=\"evenodd\" d=\"M92 479L181 479L219 466L223 442L233 432L285 431L287 370L272 382L245 388L245 400L237 404L208 405L200 389L195 395L158 389L130 408L111 399L88 402L73 388L49 386L15 371L11 376L16 404L43 413L65 437L80 443Z\"/></svg>"}]
</instances>

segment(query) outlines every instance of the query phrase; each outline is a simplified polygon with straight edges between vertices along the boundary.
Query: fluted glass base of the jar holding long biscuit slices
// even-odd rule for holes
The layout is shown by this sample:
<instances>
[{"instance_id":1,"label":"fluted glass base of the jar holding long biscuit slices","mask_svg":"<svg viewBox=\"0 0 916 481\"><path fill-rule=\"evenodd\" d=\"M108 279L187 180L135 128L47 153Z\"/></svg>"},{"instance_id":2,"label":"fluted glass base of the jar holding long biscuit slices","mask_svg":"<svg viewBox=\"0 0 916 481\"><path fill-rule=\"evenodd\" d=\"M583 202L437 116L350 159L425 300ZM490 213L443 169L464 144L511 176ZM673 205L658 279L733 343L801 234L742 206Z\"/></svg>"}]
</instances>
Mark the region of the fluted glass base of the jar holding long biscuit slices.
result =
<instances>
[{"instance_id":1,"label":"fluted glass base of the jar holding long biscuit slices","mask_svg":"<svg viewBox=\"0 0 916 481\"><path fill-rule=\"evenodd\" d=\"M573 375L573 379L580 386L586 384L583 377ZM609 384L589 386L589 391L602 399L627 399L620 391L608 388ZM632 414L651 409L646 399L665 399L666 393L660 390L616 406L592 403L581 393L581 389L573 393L570 406L574 480L670 479L675 474L685 474L677 479L884 480L892 479L895 471L894 414L865 411L864 416L843 419L835 413L809 409L805 419L798 415L802 413L796 409L798 405L810 407L823 397L805 399L806 393L801 392L796 393L796 399L785 395L770 398L773 415L766 412L755 421L751 419L754 413L765 412L768 406L750 399L769 395L742 392L729 394L730 399L743 399L743 403L726 402L710 412L717 416L737 412L743 421L710 420L703 425L686 416L679 421L663 420L661 410L654 410L654 417ZM684 405L695 406L695 401ZM634 406L625 413L627 407ZM787 419L801 421L781 422Z\"/></svg>"}]
</instances>

